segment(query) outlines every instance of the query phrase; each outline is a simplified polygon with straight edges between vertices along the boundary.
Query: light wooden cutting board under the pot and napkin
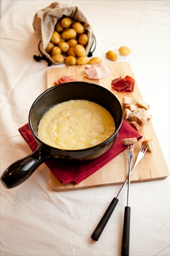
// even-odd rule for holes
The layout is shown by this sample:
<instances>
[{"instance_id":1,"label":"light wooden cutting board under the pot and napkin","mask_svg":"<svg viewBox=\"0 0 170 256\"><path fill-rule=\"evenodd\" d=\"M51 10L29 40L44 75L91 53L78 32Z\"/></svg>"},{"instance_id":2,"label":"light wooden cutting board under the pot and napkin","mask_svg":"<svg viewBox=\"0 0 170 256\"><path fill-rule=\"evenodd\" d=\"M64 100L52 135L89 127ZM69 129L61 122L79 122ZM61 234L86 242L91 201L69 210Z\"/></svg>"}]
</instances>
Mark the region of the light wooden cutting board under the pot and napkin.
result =
<instances>
[{"instance_id":1,"label":"light wooden cutting board under the pot and napkin","mask_svg":"<svg viewBox=\"0 0 170 256\"><path fill-rule=\"evenodd\" d=\"M58 80L62 75L70 75L75 77L78 81L87 81L99 84L108 90L111 90L112 93L120 100L122 103L122 97L124 96L133 96L134 98L140 98L143 100L141 93L139 91L137 82L135 83L135 88L133 93L117 93L115 90L111 89L111 81L117 77L125 77L129 75L134 77L133 71L131 70L129 63L106 63L111 68L111 75L106 79L102 80L89 80L83 75L84 66L72 66L72 67L62 67L62 68L51 68L47 73L47 86L48 88L54 86L54 81ZM134 77L135 79L135 77ZM145 99L144 99L145 101ZM150 102L147 102L150 103ZM154 113L150 113L154 115ZM151 181L151 180L161 180L165 179L168 176L168 167L165 163L162 150L160 148L158 139L151 121L148 121L147 124L143 127L142 131L144 139L153 139L154 152L147 152L138 166L135 168L135 171L131 175L131 182L141 182L141 181ZM141 141L135 144L134 151L134 160L141 149ZM128 177L128 157L127 150L122 152L116 158L111 160L100 170L96 171L95 174L87 177L79 184L69 183L62 185L56 177L51 172L51 186L53 191L69 191L74 189L83 189L90 187L97 187L102 185L112 185L124 183Z\"/></svg>"}]
</instances>

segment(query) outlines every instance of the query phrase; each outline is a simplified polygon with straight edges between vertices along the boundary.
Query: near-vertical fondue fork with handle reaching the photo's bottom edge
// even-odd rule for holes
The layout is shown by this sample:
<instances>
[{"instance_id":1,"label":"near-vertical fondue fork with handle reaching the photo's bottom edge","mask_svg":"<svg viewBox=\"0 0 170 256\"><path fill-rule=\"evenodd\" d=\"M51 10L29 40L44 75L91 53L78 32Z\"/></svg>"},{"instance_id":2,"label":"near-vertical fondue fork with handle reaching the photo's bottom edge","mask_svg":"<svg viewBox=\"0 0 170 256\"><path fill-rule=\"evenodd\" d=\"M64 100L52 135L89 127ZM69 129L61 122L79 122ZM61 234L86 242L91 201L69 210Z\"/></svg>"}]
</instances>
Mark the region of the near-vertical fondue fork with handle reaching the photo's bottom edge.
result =
<instances>
[{"instance_id":1,"label":"near-vertical fondue fork with handle reaching the photo's bottom edge","mask_svg":"<svg viewBox=\"0 0 170 256\"><path fill-rule=\"evenodd\" d=\"M122 236L122 256L129 256L129 238L130 238L130 207L129 207L129 191L130 191L130 170L131 170L131 161L133 159L133 150L134 145L128 146L128 164L129 164L129 175L128 175L128 196L127 196L127 205L125 207L124 213L124 230Z\"/></svg>"}]
</instances>

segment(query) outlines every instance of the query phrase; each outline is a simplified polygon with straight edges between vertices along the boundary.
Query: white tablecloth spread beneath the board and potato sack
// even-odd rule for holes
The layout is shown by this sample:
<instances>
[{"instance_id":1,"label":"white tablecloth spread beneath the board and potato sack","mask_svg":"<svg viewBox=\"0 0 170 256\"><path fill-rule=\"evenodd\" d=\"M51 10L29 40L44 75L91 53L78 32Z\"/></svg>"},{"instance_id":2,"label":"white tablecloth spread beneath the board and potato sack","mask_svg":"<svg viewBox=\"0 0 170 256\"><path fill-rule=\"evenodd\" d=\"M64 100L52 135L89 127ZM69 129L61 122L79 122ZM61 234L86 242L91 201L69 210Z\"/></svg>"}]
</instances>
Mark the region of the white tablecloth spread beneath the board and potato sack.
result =
<instances>
[{"instance_id":1,"label":"white tablecloth spread beneath the board and potato sack","mask_svg":"<svg viewBox=\"0 0 170 256\"><path fill-rule=\"evenodd\" d=\"M95 56L122 45L169 166L169 1L63 1L78 6L94 30ZM46 89L45 61L36 63L35 13L52 1L1 1L1 174L31 150L18 132ZM53 66L54 67L54 66ZM57 66L56 66L57 67ZM94 231L120 185L53 192L42 164L13 189L1 184L1 255L120 255L126 191L99 241ZM132 184L130 255L169 255L169 177Z\"/></svg>"}]
</instances>

